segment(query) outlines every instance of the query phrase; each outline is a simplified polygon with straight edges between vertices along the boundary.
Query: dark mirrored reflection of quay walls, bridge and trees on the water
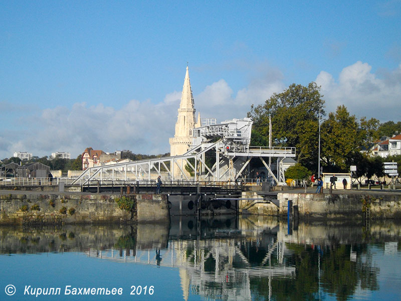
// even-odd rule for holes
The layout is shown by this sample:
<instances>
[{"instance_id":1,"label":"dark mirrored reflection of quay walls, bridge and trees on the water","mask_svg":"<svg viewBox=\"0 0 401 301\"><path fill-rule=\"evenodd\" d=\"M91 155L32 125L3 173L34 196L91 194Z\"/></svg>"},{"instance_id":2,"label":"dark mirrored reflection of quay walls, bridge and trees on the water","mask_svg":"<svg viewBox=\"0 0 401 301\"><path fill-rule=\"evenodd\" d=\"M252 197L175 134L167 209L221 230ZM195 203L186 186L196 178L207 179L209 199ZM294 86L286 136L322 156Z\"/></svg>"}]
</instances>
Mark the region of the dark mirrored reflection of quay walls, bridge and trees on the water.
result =
<instances>
[{"instance_id":1,"label":"dark mirrored reflection of quay walls, bridge and trees on the water","mask_svg":"<svg viewBox=\"0 0 401 301\"><path fill-rule=\"evenodd\" d=\"M386 293L380 275L401 296L400 229L399 223L388 221L366 227L294 225L263 217L199 222L173 217L170 224L0 227L0 252L81 252L99 260L178 269L184 300L192 295L218 300L369 299L375 292Z\"/></svg>"}]
</instances>

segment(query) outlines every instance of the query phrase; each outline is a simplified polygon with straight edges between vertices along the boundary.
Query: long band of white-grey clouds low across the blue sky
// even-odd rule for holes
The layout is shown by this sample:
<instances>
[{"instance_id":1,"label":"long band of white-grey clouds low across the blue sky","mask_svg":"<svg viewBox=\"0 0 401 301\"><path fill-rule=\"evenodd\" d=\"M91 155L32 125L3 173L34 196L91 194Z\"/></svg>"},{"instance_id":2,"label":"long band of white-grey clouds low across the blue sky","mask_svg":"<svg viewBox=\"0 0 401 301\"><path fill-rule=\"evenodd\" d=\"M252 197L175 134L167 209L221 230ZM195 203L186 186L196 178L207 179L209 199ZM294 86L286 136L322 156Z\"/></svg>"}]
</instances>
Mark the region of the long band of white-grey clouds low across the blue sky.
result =
<instances>
[{"instance_id":1,"label":"long band of white-grey clouds low across the blue sky","mask_svg":"<svg viewBox=\"0 0 401 301\"><path fill-rule=\"evenodd\" d=\"M327 112L344 104L357 117L375 117L381 122L401 120L401 65L391 71L372 73L371 66L358 61L345 67L337 78L321 71L316 83L321 86ZM243 118L251 104L261 104L285 88L283 76L277 70L251 80L237 92L220 79L194 95L195 108L202 118L214 117L218 121ZM131 100L115 108L82 102L71 108L48 108L39 116L32 111L24 116L29 126L0 130L0 158L12 157L16 150L39 157L70 152L75 158L89 146L105 152L130 149L142 154L167 153L180 97L181 91L174 91L157 104ZM2 105L7 107L6 103Z\"/></svg>"}]
</instances>

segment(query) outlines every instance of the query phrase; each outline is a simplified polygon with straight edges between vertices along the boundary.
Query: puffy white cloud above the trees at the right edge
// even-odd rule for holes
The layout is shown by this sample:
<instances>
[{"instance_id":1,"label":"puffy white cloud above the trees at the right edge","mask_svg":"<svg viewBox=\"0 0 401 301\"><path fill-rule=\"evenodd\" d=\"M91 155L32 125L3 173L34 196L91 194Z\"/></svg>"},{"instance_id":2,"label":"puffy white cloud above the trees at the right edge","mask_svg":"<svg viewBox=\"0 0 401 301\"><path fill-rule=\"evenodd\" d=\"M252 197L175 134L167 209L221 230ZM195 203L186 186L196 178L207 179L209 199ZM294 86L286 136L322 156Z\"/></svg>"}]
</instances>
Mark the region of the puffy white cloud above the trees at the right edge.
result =
<instances>
[{"instance_id":1,"label":"puffy white cloud above the trees at the right edge","mask_svg":"<svg viewBox=\"0 0 401 301\"><path fill-rule=\"evenodd\" d=\"M344 104L357 117L374 117L381 122L401 120L401 65L380 74L371 72L372 67L360 61L345 67L334 77L322 71L316 78L324 95L326 111L334 112Z\"/></svg>"}]
</instances>

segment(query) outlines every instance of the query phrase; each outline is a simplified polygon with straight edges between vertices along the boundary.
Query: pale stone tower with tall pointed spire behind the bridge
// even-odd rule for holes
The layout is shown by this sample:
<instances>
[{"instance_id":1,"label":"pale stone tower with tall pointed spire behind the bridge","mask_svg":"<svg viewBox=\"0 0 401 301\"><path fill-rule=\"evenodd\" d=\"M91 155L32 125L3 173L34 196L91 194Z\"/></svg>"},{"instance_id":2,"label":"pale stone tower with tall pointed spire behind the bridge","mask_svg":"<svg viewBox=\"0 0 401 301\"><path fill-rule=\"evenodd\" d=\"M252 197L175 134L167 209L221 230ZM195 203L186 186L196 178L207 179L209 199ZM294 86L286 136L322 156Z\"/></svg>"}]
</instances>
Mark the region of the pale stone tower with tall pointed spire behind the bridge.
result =
<instances>
[{"instance_id":1,"label":"pale stone tower with tall pointed spire behind the bridge","mask_svg":"<svg viewBox=\"0 0 401 301\"><path fill-rule=\"evenodd\" d=\"M184 85L182 87L181 102L178 108L177 122L175 123L174 137L169 139L170 156L182 155L188 150L188 145L192 144L192 136L190 130L195 127L195 109L189 81L188 66ZM184 167L182 167L184 170ZM180 175L178 167L174 167L174 178ZM188 175L188 174L187 174Z\"/></svg>"}]
</instances>

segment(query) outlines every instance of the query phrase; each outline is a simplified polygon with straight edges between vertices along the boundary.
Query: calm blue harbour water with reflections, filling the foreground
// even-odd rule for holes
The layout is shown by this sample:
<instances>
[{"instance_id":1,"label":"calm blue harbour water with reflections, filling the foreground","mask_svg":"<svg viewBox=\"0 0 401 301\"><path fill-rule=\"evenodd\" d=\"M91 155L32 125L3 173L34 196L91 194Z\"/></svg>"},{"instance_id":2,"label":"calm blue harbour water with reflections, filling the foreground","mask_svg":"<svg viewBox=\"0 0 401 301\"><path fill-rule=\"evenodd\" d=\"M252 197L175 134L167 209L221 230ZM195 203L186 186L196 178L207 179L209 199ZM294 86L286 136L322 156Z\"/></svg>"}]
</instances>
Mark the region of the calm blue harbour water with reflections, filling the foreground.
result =
<instances>
[{"instance_id":1,"label":"calm blue harbour water with reflections, filling the foreground","mask_svg":"<svg viewBox=\"0 0 401 301\"><path fill-rule=\"evenodd\" d=\"M0 227L0 300L401 300L400 230L258 217Z\"/></svg>"}]
</instances>

